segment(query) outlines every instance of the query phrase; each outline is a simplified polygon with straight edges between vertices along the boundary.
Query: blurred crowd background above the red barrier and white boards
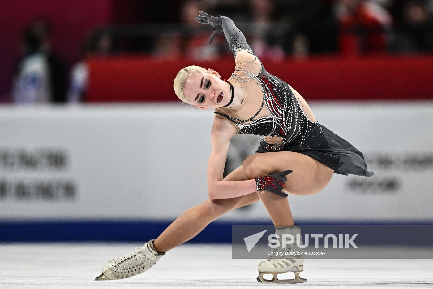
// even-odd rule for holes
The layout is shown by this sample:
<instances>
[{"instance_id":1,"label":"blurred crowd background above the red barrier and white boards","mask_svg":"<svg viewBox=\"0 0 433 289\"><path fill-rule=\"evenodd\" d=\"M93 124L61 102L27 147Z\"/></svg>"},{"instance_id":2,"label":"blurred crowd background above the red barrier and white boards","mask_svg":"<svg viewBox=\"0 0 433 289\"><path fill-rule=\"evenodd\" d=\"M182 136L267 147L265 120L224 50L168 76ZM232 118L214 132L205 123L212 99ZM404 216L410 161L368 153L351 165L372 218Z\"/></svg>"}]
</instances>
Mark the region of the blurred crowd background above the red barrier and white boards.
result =
<instances>
[{"instance_id":1,"label":"blurred crowd background above the red barrier and white boards","mask_svg":"<svg viewBox=\"0 0 433 289\"><path fill-rule=\"evenodd\" d=\"M262 62L433 52L433 0L1 2L0 102L85 101L90 56L231 54L199 10L232 18Z\"/></svg>"}]
</instances>

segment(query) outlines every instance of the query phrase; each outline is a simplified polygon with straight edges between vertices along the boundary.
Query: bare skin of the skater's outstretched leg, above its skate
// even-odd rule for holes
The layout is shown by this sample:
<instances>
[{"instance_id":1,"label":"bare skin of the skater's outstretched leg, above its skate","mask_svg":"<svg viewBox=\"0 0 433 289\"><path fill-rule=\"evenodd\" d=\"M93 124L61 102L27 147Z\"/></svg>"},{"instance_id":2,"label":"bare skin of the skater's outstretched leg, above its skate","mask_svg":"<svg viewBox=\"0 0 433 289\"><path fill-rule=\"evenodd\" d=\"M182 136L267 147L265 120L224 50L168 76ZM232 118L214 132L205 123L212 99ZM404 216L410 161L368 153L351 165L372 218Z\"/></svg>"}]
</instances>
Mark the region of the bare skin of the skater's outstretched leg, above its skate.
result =
<instances>
[{"instance_id":1,"label":"bare skin of the skater's outstretched leg, above its skate","mask_svg":"<svg viewBox=\"0 0 433 289\"><path fill-rule=\"evenodd\" d=\"M248 180L242 166L228 174L224 181ZM230 199L207 199L202 204L192 207L181 214L155 240L153 246L158 252L166 252L200 233L210 222L230 210L255 203L259 197L255 192ZM181 233L180 233L181 232Z\"/></svg>"}]
</instances>

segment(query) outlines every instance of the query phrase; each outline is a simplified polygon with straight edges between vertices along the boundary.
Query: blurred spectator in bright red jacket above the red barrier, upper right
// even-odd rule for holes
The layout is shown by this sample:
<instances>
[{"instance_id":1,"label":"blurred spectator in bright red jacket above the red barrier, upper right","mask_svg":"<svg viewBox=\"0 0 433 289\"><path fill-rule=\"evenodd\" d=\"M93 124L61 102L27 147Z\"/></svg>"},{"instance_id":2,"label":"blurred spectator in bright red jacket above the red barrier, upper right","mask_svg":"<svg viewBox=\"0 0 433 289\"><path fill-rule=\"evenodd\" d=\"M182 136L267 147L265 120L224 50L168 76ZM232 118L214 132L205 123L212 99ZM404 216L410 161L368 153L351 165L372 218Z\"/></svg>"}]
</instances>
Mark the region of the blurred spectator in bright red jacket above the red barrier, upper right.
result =
<instances>
[{"instance_id":1,"label":"blurred spectator in bright red jacket above the red barrier, upper right","mask_svg":"<svg viewBox=\"0 0 433 289\"><path fill-rule=\"evenodd\" d=\"M392 24L387 10L373 1L339 0L336 13L341 53L359 55L386 52L386 30Z\"/></svg>"}]
</instances>

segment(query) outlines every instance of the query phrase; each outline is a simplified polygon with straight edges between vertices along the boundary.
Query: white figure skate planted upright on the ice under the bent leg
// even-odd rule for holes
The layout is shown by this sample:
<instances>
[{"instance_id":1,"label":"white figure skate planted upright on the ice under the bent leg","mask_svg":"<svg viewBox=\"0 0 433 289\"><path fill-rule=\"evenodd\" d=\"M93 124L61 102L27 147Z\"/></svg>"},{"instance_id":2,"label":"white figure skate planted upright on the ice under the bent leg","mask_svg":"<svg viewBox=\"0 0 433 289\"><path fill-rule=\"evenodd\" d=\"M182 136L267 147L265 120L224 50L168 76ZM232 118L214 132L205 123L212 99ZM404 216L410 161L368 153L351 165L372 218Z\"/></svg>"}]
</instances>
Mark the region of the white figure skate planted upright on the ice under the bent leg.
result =
<instances>
[{"instance_id":1,"label":"white figure skate planted upright on the ice under the bent leg","mask_svg":"<svg viewBox=\"0 0 433 289\"><path fill-rule=\"evenodd\" d=\"M301 228L299 227L291 227L285 229L276 229L275 234L277 234L278 240L280 241L280 246L274 250L274 254L266 261L260 262L257 265L257 270L259 271L259 276L257 277L257 281L260 283L302 283L307 282L307 279L301 278L299 273L304 271L304 259L302 259L301 254L290 255L286 254L286 252L304 252L303 248L300 248L296 245L297 240L299 239L299 243L304 245L301 237ZM285 248L282 247L281 236L283 234L290 234L294 236L295 242L290 245L286 245ZM281 255L282 254L282 255ZM288 280L279 280L277 278L278 273L286 273L293 272L295 273L294 279ZM263 278L264 274L272 274L272 279Z\"/></svg>"}]
</instances>

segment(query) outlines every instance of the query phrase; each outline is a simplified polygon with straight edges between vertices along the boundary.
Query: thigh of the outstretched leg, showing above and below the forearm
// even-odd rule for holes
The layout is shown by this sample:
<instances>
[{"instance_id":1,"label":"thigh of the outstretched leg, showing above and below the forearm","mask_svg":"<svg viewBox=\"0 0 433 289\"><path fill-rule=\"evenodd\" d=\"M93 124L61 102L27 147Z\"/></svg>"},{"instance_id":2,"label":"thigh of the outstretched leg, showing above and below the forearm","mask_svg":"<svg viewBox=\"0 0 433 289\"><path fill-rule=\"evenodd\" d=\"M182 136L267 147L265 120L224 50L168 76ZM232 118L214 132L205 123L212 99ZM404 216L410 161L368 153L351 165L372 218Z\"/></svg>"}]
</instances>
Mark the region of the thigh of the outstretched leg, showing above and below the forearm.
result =
<instances>
[{"instance_id":1,"label":"thigh of the outstretched leg, showing above and below the forearm","mask_svg":"<svg viewBox=\"0 0 433 289\"><path fill-rule=\"evenodd\" d=\"M223 181L246 181L248 178L245 175L244 169L242 166L237 167L234 171L228 174ZM212 202L213 204L217 204L220 206L228 207L229 210L237 209L252 203L259 201L259 196L256 192L251 192L251 194L247 194L240 197L229 198L229 199L216 199L207 201Z\"/></svg>"}]
</instances>

